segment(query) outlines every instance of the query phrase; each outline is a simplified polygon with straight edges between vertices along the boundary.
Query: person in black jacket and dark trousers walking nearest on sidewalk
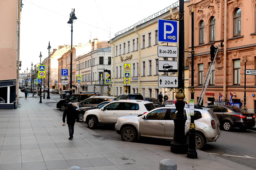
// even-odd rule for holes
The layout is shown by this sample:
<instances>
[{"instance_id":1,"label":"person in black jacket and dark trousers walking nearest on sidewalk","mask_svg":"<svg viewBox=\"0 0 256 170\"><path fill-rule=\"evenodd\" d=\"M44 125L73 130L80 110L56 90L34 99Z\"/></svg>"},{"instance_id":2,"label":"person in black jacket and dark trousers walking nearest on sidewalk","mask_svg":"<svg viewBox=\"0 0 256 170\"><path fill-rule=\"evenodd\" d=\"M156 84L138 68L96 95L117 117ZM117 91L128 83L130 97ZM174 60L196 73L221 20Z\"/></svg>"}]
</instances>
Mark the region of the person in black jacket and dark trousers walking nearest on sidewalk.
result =
<instances>
[{"instance_id":1,"label":"person in black jacket and dark trousers walking nearest on sidewalk","mask_svg":"<svg viewBox=\"0 0 256 170\"><path fill-rule=\"evenodd\" d=\"M68 131L69 131L69 140L73 139L73 134L74 134L74 125L76 122L76 109L73 107L72 103L69 102L67 104L67 108L63 113L62 116L62 121L63 124L62 126L65 126L65 118L67 116L67 126L68 126Z\"/></svg>"}]
</instances>

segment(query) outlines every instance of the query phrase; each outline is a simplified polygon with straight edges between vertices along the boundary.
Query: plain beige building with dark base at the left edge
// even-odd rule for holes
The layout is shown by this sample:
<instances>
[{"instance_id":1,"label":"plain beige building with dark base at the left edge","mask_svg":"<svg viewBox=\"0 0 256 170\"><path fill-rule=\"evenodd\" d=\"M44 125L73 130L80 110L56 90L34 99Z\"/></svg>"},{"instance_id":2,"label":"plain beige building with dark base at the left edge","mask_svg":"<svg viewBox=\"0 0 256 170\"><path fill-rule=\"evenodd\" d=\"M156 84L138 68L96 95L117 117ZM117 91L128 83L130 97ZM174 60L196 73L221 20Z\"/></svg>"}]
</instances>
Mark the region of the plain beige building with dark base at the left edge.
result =
<instances>
[{"instance_id":1,"label":"plain beige building with dark base at the left edge","mask_svg":"<svg viewBox=\"0 0 256 170\"><path fill-rule=\"evenodd\" d=\"M19 95L19 28L21 1L1 1L0 28L0 108L14 109L18 106ZM6 15L7 14L7 15Z\"/></svg>"}]
</instances>

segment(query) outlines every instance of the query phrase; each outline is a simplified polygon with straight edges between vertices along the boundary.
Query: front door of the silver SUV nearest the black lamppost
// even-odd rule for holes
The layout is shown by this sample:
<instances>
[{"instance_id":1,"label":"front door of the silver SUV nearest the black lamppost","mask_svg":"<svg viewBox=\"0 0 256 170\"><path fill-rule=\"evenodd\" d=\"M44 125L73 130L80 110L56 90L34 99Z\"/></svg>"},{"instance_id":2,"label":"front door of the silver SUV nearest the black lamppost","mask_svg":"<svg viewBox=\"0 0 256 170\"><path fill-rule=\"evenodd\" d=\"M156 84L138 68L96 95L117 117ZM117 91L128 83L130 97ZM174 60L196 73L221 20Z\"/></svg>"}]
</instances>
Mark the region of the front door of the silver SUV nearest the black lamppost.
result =
<instances>
[{"instance_id":1,"label":"front door of the silver SUV nearest the black lamppost","mask_svg":"<svg viewBox=\"0 0 256 170\"><path fill-rule=\"evenodd\" d=\"M140 122L141 135L163 137L166 112L166 108L158 109L148 113L145 119L142 116Z\"/></svg>"}]
</instances>

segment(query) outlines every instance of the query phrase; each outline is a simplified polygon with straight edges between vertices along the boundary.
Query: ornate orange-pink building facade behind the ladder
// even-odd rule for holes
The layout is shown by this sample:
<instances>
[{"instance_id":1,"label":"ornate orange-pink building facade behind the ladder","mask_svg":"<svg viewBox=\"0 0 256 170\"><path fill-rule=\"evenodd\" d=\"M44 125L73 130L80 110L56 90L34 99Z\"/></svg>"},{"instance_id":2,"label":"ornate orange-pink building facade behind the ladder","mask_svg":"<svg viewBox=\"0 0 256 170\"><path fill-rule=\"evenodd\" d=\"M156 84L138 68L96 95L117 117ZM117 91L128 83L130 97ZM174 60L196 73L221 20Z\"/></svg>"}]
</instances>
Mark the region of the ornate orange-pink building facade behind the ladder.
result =
<instances>
[{"instance_id":1,"label":"ornate orange-pink building facade behind the ladder","mask_svg":"<svg viewBox=\"0 0 256 170\"><path fill-rule=\"evenodd\" d=\"M233 99L241 101L243 108L245 64L246 69L256 68L256 1L191 0L188 6L190 12L192 7L195 12L195 63L191 63L191 58L188 58L190 64L195 66L195 101L200 95L211 62L210 46L220 44L203 104L214 100L218 104L220 93L223 95L222 101L225 98L228 100L231 93ZM255 76L246 75L246 107L254 113L255 85Z\"/></svg>"}]
</instances>

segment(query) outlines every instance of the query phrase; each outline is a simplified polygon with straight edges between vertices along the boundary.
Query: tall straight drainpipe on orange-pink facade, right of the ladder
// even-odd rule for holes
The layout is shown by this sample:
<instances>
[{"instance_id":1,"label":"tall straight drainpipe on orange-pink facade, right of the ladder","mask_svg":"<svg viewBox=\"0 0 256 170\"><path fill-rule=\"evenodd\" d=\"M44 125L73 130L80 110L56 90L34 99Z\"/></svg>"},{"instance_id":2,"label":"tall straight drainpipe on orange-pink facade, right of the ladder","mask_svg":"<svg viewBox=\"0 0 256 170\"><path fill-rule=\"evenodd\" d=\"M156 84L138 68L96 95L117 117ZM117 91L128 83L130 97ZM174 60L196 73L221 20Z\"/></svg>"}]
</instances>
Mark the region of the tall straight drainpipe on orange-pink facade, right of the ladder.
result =
<instances>
[{"instance_id":1,"label":"tall straight drainpipe on orange-pink facade, right of the ladder","mask_svg":"<svg viewBox=\"0 0 256 170\"><path fill-rule=\"evenodd\" d=\"M224 0L224 68L223 68L223 93L227 98L227 0Z\"/></svg>"}]
</instances>

